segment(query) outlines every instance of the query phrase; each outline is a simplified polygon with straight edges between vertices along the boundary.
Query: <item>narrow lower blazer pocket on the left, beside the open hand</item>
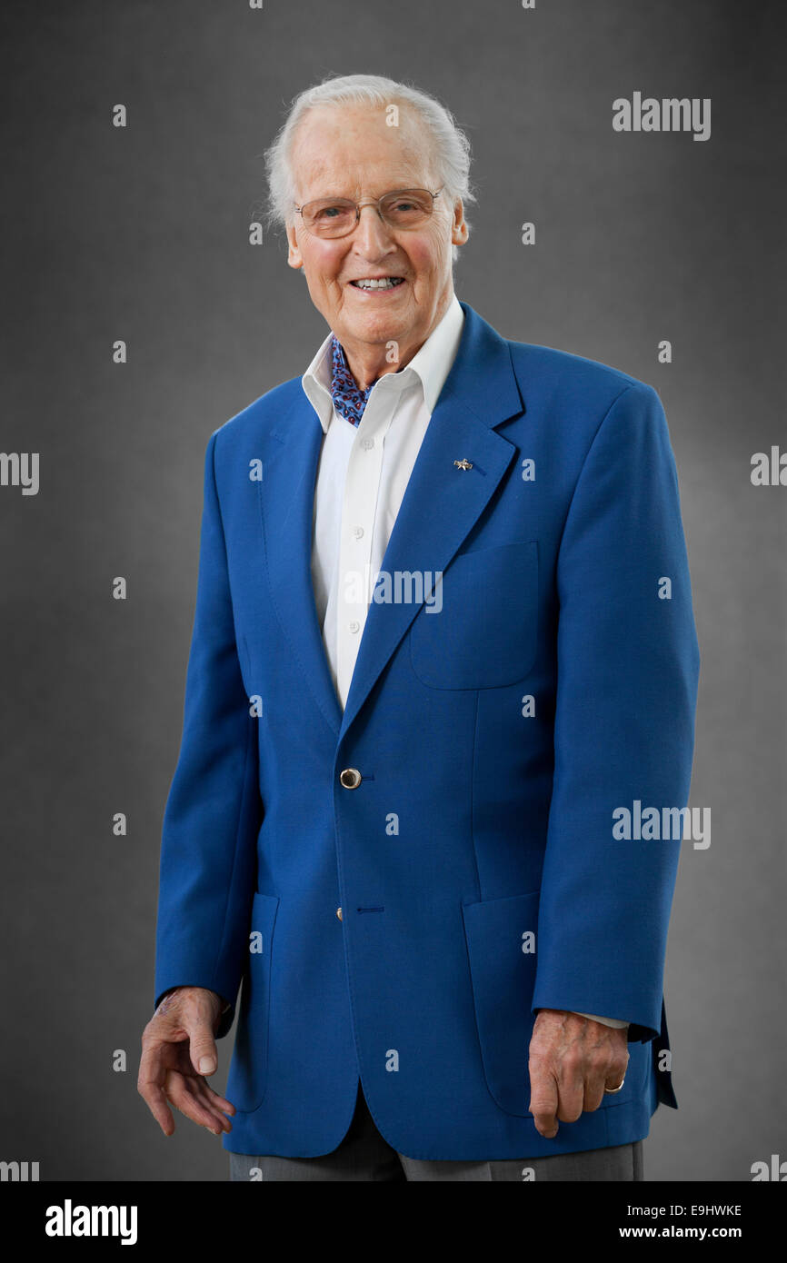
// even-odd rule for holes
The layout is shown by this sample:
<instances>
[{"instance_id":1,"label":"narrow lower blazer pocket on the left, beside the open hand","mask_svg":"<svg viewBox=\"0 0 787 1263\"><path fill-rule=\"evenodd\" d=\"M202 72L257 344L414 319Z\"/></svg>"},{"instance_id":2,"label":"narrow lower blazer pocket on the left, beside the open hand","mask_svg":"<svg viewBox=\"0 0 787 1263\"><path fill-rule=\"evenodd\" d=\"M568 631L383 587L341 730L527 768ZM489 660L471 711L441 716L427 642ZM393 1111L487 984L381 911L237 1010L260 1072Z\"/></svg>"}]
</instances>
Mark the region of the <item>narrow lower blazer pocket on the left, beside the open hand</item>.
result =
<instances>
[{"instance_id":1,"label":"narrow lower blazer pocket on the left, beside the open hand","mask_svg":"<svg viewBox=\"0 0 787 1263\"><path fill-rule=\"evenodd\" d=\"M249 960L226 1087L227 1100L241 1114L250 1114L261 1105L268 1082L270 962L278 907L278 895L259 892L251 904Z\"/></svg>"}]
</instances>

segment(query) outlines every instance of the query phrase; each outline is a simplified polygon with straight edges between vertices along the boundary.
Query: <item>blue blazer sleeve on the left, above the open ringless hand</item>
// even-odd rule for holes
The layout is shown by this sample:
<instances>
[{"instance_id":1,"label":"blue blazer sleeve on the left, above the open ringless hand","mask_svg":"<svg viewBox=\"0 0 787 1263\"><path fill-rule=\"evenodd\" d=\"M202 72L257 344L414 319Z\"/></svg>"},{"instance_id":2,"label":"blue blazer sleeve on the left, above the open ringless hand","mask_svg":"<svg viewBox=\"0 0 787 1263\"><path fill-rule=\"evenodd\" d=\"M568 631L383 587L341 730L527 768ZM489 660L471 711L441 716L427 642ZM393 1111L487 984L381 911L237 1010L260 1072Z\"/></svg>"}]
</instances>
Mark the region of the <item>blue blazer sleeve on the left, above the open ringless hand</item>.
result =
<instances>
[{"instance_id":1,"label":"blue blazer sleeve on the left, above the open ringless hand","mask_svg":"<svg viewBox=\"0 0 787 1263\"><path fill-rule=\"evenodd\" d=\"M232 1024L249 950L261 822L256 721L240 672L216 490L219 431L207 445L197 597L183 730L162 829L155 1004L172 986L205 986Z\"/></svg>"}]
</instances>

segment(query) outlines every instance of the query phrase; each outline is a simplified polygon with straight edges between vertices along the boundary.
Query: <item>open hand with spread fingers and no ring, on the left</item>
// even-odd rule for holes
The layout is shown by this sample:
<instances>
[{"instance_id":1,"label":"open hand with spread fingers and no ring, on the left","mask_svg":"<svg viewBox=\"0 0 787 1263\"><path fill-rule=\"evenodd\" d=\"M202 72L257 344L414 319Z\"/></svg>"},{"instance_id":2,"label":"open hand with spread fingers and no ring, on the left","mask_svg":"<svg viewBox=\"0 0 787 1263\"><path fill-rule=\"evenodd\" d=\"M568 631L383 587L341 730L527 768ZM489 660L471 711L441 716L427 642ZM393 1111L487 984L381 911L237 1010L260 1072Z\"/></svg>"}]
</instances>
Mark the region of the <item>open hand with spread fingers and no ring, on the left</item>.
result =
<instances>
[{"instance_id":1,"label":"open hand with spread fingers and no ring, on the left","mask_svg":"<svg viewBox=\"0 0 787 1263\"><path fill-rule=\"evenodd\" d=\"M164 1135L174 1132L169 1101L213 1135L231 1132L235 1106L205 1080L217 1066L216 1041L224 1000L203 986L176 986L164 995L141 1037L136 1090Z\"/></svg>"}]
</instances>

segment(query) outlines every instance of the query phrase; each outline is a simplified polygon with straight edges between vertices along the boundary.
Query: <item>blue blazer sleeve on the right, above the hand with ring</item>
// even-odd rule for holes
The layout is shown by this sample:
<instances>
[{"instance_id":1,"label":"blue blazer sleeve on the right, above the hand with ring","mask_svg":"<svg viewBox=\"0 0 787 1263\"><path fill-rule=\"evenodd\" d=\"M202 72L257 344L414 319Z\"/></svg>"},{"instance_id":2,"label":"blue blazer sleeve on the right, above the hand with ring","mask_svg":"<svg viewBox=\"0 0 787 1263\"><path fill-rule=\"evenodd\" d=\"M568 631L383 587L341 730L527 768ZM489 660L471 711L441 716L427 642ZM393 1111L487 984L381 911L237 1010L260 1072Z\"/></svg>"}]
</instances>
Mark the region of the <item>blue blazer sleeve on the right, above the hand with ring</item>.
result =
<instances>
[{"instance_id":1,"label":"blue blazer sleeve on the right, above the hand with ring","mask_svg":"<svg viewBox=\"0 0 787 1263\"><path fill-rule=\"evenodd\" d=\"M556 584L555 777L532 1009L605 1013L632 1023L629 1039L653 1039L681 841L618 840L613 812L634 812L638 799L663 820L664 807L686 806L700 655L667 421L643 383L616 397L595 433Z\"/></svg>"}]
</instances>

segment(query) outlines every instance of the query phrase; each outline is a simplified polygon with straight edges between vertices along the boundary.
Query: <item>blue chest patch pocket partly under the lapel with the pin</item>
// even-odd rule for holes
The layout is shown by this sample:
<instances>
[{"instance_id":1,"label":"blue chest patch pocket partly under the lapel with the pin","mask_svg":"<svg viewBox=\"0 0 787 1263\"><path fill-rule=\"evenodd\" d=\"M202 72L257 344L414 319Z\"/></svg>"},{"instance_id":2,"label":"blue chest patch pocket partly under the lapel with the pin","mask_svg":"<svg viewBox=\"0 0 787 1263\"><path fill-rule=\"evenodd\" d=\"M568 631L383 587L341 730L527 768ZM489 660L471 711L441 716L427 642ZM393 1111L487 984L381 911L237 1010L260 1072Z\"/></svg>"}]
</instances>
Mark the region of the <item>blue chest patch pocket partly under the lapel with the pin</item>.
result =
<instances>
[{"instance_id":1,"label":"blue chest patch pocket partly under the lapel with the pin","mask_svg":"<svg viewBox=\"0 0 787 1263\"><path fill-rule=\"evenodd\" d=\"M499 688L527 676L538 633L534 539L459 553L411 629L413 671L431 688Z\"/></svg>"}]
</instances>

